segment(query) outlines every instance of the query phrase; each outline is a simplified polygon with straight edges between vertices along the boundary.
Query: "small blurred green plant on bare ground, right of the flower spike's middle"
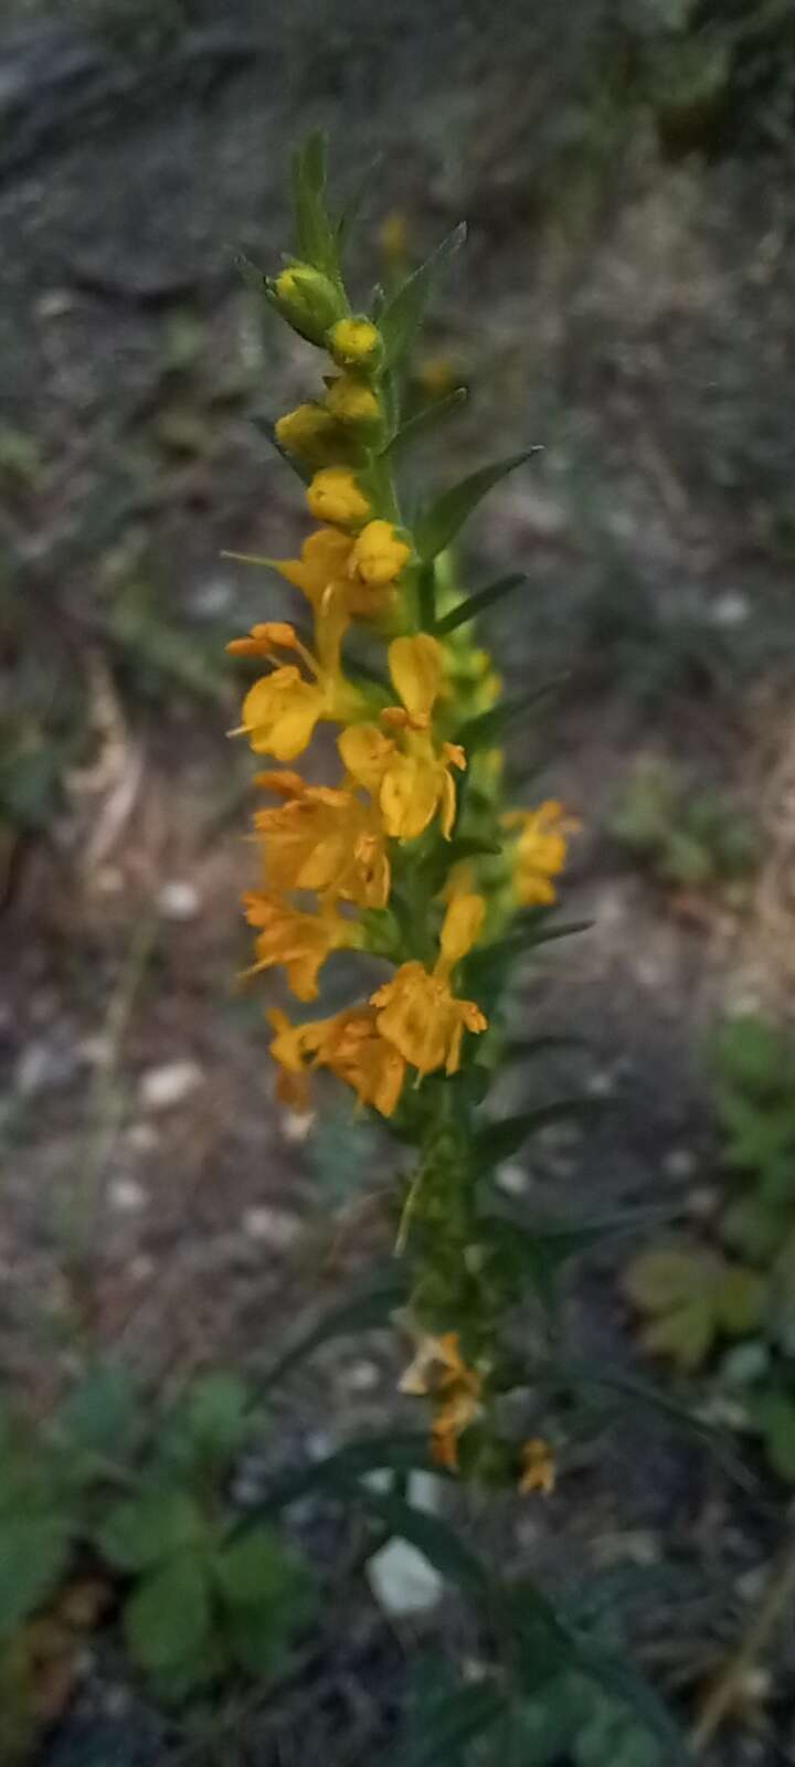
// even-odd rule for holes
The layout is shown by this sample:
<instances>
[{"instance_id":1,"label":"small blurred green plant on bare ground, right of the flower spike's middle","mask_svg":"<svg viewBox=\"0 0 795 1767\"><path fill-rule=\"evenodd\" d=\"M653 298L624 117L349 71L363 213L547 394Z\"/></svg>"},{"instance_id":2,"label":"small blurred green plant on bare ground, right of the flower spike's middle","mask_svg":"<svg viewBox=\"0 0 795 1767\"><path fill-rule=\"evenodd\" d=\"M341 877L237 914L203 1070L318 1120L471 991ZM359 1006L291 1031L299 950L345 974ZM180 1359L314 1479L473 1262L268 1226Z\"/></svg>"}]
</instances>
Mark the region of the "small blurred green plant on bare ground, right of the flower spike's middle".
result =
<instances>
[{"instance_id":1,"label":"small blurred green plant on bare ground, right of the flower spike's middle","mask_svg":"<svg viewBox=\"0 0 795 1767\"><path fill-rule=\"evenodd\" d=\"M693 792L661 760L632 769L610 832L666 887L731 891L733 901L742 901L742 885L758 862L751 818L723 792Z\"/></svg>"}]
</instances>

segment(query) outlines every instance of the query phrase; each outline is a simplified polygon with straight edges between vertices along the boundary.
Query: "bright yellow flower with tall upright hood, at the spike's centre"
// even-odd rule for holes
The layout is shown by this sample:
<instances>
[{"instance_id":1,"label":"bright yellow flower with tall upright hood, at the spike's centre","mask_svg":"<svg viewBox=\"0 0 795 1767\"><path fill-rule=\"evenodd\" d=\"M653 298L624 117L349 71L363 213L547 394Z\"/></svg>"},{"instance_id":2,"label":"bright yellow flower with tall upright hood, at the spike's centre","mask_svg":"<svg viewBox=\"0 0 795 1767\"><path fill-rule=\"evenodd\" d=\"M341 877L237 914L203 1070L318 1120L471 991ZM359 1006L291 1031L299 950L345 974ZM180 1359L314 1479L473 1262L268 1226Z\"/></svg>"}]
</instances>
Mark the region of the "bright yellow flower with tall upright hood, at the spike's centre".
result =
<instances>
[{"instance_id":1,"label":"bright yellow flower with tall upright hood, at the spike's centre","mask_svg":"<svg viewBox=\"0 0 795 1767\"><path fill-rule=\"evenodd\" d=\"M403 707L387 707L382 721L399 732L399 740L385 737L376 724L353 724L343 730L339 753L352 777L378 795L389 836L413 839L438 809L442 834L449 839L456 816L450 767L466 767L466 756L456 742L442 742L436 749L431 733L442 648L426 633L396 638L389 647L389 670Z\"/></svg>"}]
</instances>

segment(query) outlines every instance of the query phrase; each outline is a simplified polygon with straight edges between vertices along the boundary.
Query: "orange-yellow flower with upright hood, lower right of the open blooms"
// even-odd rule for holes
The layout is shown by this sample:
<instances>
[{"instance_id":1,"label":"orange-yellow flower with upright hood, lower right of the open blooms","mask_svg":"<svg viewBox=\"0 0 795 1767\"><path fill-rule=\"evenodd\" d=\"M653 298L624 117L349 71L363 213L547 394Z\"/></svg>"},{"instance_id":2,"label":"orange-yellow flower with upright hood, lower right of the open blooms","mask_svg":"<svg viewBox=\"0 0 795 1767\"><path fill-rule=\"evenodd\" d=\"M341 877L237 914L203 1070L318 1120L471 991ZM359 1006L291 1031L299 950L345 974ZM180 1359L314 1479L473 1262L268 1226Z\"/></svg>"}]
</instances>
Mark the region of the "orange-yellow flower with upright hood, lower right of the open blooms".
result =
<instances>
[{"instance_id":1,"label":"orange-yellow flower with upright hood, lower right of the open blooms","mask_svg":"<svg viewBox=\"0 0 795 1767\"><path fill-rule=\"evenodd\" d=\"M477 940L484 912L482 896L456 896L447 906L433 972L415 959L401 963L392 981L371 995L371 1005L378 1007L378 1030L420 1076L436 1067L458 1073L465 1030L488 1028L475 1000L458 1000L449 986L450 970Z\"/></svg>"}]
</instances>

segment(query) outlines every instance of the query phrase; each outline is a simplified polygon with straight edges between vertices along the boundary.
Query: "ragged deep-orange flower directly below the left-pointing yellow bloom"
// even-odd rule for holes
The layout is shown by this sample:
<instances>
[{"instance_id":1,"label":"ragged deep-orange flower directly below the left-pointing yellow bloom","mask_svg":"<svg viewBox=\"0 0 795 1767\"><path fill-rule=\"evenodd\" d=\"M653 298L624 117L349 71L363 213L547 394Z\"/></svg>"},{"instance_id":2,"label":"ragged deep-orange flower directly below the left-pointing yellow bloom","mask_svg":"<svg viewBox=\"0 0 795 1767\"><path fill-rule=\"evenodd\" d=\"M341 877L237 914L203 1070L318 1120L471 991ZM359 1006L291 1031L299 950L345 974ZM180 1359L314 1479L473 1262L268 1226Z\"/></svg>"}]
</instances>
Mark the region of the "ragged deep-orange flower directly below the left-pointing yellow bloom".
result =
<instances>
[{"instance_id":1,"label":"ragged deep-orange flower directly below the left-pointing yellow bloom","mask_svg":"<svg viewBox=\"0 0 795 1767\"><path fill-rule=\"evenodd\" d=\"M254 816L270 887L385 908L389 859L373 804L362 804L355 792L306 785L299 774L260 774L256 783L284 799Z\"/></svg>"}]
</instances>

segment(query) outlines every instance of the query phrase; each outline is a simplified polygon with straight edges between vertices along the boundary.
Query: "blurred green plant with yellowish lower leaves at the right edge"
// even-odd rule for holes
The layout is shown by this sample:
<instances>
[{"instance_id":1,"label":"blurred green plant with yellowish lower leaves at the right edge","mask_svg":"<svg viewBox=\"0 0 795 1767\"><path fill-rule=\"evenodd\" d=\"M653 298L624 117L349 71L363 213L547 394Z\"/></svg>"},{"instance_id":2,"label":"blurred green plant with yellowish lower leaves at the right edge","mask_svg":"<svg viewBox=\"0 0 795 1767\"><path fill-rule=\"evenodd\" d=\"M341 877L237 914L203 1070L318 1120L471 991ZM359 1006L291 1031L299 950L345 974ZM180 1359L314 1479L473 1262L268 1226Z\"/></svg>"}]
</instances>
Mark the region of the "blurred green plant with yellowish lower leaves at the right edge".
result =
<instances>
[{"instance_id":1,"label":"blurred green plant with yellowish lower leaves at the right edge","mask_svg":"<svg viewBox=\"0 0 795 1767\"><path fill-rule=\"evenodd\" d=\"M717 1394L731 1421L795 1483L795 1050L746 1014L716 1037L712 1067L730 1179L714 1239L678 1235L640 1253L624 1288L654 1355L687 1375L719 1355Z\"/></svg>"}]
</instances>

